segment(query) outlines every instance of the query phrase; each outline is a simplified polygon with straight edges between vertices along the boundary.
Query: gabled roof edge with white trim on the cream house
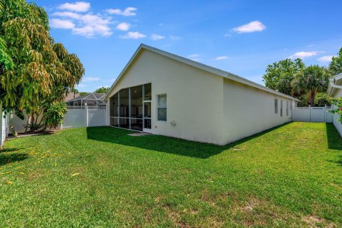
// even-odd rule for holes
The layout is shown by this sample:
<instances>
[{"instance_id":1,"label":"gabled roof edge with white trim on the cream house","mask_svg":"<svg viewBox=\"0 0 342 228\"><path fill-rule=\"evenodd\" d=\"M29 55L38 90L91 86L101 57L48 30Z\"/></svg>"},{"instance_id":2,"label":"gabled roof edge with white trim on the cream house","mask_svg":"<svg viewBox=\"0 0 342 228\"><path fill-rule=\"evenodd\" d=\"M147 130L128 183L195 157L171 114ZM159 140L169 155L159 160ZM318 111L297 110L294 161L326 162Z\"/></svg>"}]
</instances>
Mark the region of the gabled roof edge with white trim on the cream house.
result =
<instances>
[{"instance_id":1,"label":"gabled roof edge with white trim on the cream house","mask_svg":"<svg viewBox=\"0 0 342 228\"><path fill-rule=\"evenodd\" d=\"M148 50L148 51L152 51L152 52L154 52L154 53L158 53L158 54L160 54L160 55L162 55L162 56L165 56L165 57L167 57L167 58L172 58L172 59L175 60L175 61L179 61L179 62L181 62L181 63L185 63L185 64L187 64L187 65L189 65L189 66L193 66L193 67L195 67L195 68L202 69L203 71L207 71L207 72L209 72L209 73L213 73L213 74L215 74L215 75L217 75L217 76L222 76L222 77L228 78L228 79L230 79L230 80L232 80L232 81L237 81L237 82L239 82L239 83L243 83L243 84L245 84L245 85L247 85L247 86L252 86L252 87L254 87L254 88L259 88L260 90L265 90L265 91L267 91L267 92L269 92L269 93L274 93L274 94L276 94L276 95L280 95L280 96L285 97L285 98L294 99L294 100L299 101L298 99L293 98L293 97L291 97L290 95L286 95L286 94L280 93L280 92L278 92L278 91L276 91L276 90L272 90L271 88L267 88L267 87L265 87L265 86L261 86L261 85L259 85L258 83L254 83L254 82L252 82L252 81L249 81L249 80L247 80L247 79L245 79L245 78L242 78L242 77L240 77L240 76L236 76L236 75L234 75L234 74L232 74L232 73L229 73L229 72L227 72L227 71L222 71L222 70L219 70L219 69L214 68L214 67L212 67L212 66L207 66L207 65L205 65L205 64L198 63L198 62L196 62L196 61L192 61L192 60L190 60L190 59L188 59L188 58L184 58L184 57L182 57L182 56L177 56L177 55L175 55L175 54L168 53L167 51L162 51L162 50L160 50L160 49L158 49L158 48L153 48L153 47L151 47L151 46L147 46L146 44L143 44L143 43L140 44L140 46L138 47L137 51L135 51L135 53L133 54L132 58L130 58L130 61L128 61L128 63L127 63L127 65L125 66L125 68L123 68L123 71L121 71L121 73L120 73L120 75L118 76L118 78L116 78L116 80L115 80L114 83L113 83L113 86L110 87L110 90L109 90L108 93L105 95L105 98L104 98L104 99L107 98L108 94L113 90L113 88L114 88L114 86L116 85L116 83L118 83L118 81L120 81L120 78L122 78L123 75L125 74L125 72L128 70L128 68L130 67L130 64L133 63L133 61L135 61L135 58L138 58L139 53L140 53L141 51L143 51L144 49L145 49L145 50Z\"/></svg>"}]
</instances>

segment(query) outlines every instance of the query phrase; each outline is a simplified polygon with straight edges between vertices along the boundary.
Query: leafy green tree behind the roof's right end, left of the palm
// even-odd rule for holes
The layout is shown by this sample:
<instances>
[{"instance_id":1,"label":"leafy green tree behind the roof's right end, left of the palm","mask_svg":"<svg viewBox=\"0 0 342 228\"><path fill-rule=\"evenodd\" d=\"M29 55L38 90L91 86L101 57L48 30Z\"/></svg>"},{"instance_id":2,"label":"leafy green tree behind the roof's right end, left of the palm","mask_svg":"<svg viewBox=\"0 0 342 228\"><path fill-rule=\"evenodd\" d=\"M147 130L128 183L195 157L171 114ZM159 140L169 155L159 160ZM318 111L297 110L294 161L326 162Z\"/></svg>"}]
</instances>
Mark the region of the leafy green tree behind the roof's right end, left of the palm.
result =
<instances>
[{"instance_id":1,"label":"leafy green tree behind the roof's right end, left of the palm","mask_svg":"<svg viewBox=\"0 0 342 228\"><path fill-rule=\"evenodd\" d=\"M300 58L296 58L294 61L286 58L267 66L266 73L262 78L264 78L266 87L291 95L291 81L294 80L295 74L304 68L305 64Z\"/></svg>"}]
</instances>

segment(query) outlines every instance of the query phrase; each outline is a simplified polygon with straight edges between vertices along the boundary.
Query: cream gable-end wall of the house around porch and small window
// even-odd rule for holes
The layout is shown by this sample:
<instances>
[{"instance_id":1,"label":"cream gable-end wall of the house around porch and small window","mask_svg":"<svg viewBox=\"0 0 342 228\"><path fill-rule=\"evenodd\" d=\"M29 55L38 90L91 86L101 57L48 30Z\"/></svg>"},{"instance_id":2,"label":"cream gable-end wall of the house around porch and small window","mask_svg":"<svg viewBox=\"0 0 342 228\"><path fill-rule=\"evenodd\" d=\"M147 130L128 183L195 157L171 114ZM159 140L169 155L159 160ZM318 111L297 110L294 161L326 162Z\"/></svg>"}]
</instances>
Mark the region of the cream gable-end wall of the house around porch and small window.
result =
<instances>
[{"instance_id":1,"label":"cream gable-end wall of the house around porch and small window","mask_svg":"<svg viewBox=\"0 0 342 228\"><path fill-rule=\"evenodd\" d=\"M152 134L224 143L223 78L144 50L116 83L118 90L152 83ZM157 120L158 94L167 94L167 121ZM175 120L176 125L170 124Z\"/></svg>"}]
</instances>

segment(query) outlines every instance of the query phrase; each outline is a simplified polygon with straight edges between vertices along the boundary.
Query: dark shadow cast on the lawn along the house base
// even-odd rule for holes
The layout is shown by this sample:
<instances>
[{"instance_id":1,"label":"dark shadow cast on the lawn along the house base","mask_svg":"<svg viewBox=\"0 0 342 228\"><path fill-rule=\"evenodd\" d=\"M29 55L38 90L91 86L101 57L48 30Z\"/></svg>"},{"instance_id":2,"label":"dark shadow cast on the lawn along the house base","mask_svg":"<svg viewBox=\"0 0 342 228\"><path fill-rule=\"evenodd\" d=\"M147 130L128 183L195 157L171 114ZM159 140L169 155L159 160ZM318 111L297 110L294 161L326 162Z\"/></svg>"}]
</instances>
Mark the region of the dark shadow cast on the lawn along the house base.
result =
<instances>
[{"instance_id":1,"label":"dark shadow cast on the lawn along the house base","mask_svg":"<svg viewBox=\"0 0 342 228\"><path fill-rule=\"evenodd\" d=\"M281 128L281 126L284 125L280 125L276 128ZM167 152L176 155L205 159L217 155L220 152L227 150L229 148L236 147L237 145L247 142L249 140L259 138L261 135L269 133L272 130L275 130L276 128L265 130L264 132L252 135L250 137L238 140L236 142L229 143L224 146L203 142L192 142L188 140L171 138L162 135L144 135L140 137L133 137L128 135L128 133L133 133L130 130L112 127L87 128L87 137L90 140L112 142L115 144L139 147L147 150L155 150L159 152Z\"/></svg>"}]
</instances>

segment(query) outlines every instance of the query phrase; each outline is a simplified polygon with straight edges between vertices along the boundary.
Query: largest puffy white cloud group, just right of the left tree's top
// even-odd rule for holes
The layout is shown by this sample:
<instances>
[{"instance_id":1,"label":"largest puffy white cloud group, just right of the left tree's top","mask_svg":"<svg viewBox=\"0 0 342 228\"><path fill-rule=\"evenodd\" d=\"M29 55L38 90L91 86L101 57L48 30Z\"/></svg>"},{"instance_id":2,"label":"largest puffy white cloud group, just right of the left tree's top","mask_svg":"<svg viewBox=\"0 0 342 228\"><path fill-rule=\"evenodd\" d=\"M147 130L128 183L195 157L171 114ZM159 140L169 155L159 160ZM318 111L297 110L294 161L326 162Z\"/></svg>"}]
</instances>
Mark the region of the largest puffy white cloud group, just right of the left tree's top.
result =
<instances>
[{"instance_id":1,"label":"largest puffy white cloud group, just right of the left tree's top","mask_svg":"<svg viewBox=\"0 0 342 228\"><path fill-rule=\"evenodd\" d=\"M112 34L109 26L112 22L100 14L77 14L63 11L52 15L61 17L60 19L51 19L53 28L70 28L73 33L86 37L110 36Z\"/></svg>"}]
</instances>

